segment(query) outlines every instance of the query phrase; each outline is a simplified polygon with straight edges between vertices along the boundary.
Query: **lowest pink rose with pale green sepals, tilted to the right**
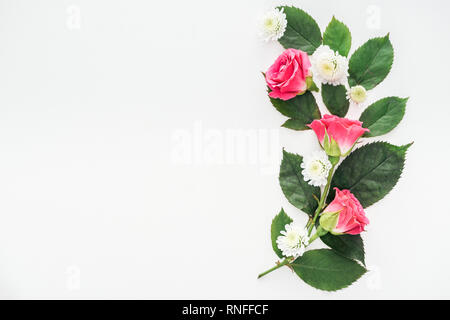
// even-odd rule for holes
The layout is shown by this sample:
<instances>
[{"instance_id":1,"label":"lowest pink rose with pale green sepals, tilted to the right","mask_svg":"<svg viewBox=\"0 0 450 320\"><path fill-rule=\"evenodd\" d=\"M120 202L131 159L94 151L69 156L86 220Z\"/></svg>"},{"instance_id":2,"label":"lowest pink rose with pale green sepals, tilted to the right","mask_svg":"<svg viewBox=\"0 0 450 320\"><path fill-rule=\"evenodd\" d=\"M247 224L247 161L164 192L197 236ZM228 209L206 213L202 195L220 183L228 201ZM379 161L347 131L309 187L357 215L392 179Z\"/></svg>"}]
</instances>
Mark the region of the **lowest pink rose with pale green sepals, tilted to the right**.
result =
<instances>
[{"instance_id":1,"label":"lowest pink rose with pale green sepals, tilted to the right","mask_svg":"<svg viewBox=\"0 0 450 320\"><path fill-rule=\"evenodd\" d=\"M349 190L336 190L334 200L325 208L320 225L332 234L360 234L369 224L361 203Z\"/></svg>"}]
</instances>

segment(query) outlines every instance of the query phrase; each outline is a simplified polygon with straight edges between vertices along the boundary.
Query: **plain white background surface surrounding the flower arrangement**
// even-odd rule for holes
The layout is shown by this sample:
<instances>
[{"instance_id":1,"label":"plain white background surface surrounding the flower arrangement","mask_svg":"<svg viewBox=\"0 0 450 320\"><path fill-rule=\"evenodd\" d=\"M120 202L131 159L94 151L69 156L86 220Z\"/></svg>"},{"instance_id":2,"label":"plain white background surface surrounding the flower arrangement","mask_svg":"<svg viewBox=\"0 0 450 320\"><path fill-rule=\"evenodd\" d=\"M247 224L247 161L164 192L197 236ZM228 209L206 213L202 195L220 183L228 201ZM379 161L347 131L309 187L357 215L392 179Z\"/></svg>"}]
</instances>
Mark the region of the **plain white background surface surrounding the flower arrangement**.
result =
<instances>
[{"instance_id":1,"label":"plain white background surface surrounding the flower arrangement","mask_svg":"<svg viewBox=\"0 0 450 320\"><path fill-rule=\"evenodd\" d=\"M322 31L343 20L352 52L390 32L370 100L410 97L381 137L415 143L366 210L371 272L337 293L287 268L256 279L281 206L304 218L281 148L318 148L280 128L260 74L282 48L258 17L283 2L1 0L1 298L450 298L448 1L292 3ZM244 151L224 142L242 132Z\"/></svg>"}]
</instances>

